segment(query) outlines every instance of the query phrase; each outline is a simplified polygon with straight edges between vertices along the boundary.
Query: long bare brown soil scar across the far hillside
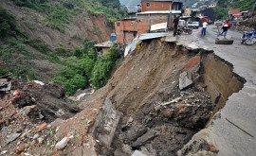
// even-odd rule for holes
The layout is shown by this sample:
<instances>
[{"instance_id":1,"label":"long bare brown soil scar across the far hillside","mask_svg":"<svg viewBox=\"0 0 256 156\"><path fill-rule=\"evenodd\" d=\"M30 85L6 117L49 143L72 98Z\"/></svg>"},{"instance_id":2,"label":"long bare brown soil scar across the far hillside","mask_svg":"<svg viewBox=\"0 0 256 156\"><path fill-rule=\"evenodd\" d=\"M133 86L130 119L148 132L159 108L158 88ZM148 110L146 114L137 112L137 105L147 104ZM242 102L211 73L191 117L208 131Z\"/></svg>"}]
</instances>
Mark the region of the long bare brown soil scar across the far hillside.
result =
<instances>
[{"instance_id":1,"label":"long bare brown soil scar across the far hillside","mask_svg":"<svg viewBox=\"0 0 256 156\"><path fill-rule=\"evenodd\" d=\"M40 38L48 45L50 49L55 50L60 46L73 51L75 45L82 46L84 38L105 42L110 40L110 34L113 32L113 26L107 24L103 16L88 15L86 20L78 16L70 16L70 23L65 24L64 33L46 25L43 12L37 12L33 9L25 9L14 6L11 1L1 1L0 6L9 10L26 32L33 38ZM86 12L86 10L83 10ZM33 28L31 28L31 26Z\"/></svg>"}]
</instances>

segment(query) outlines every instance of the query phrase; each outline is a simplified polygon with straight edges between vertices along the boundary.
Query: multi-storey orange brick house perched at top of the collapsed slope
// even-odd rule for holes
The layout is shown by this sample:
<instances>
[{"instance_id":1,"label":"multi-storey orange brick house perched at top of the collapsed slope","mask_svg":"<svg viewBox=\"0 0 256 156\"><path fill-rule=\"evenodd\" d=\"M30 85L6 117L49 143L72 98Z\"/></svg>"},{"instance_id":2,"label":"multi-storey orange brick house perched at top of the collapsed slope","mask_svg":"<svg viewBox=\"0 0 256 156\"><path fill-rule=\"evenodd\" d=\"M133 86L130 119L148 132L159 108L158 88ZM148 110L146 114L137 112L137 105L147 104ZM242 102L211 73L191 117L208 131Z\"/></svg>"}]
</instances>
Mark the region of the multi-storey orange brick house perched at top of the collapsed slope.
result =
<instances>
[{"instance_id":1,"label":"multi-storey orange brick house perched at top of the collapsed slope","mask_svg":"<svg viewBox=\"0 0 256 156\"><path fill-rule=\"evenodd\" d=\"M181 15L183 4L175 0L142 0L141 12L136 17L122 19L115 22L115 32L117 43L132 43L136 36L142 33L151 32L151 27L155 25L163 28L173 27L174 14ZM159 24L159 25L156 25Z\"/></svg>"}]
</instances>

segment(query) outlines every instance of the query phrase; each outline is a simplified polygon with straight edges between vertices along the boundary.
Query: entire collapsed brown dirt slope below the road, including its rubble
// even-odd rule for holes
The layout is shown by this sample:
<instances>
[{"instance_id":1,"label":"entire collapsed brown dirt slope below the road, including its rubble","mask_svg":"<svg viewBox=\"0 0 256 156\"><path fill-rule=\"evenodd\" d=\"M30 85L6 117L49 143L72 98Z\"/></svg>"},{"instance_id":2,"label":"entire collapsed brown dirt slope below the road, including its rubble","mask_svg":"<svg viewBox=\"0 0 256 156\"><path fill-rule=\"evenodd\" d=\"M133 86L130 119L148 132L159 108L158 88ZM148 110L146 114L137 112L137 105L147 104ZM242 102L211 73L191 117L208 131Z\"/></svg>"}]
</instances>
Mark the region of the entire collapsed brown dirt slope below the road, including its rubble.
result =
<instances>
[{"instance_id":1,"label":"entire collapsed brown dirt slope below the road, including its rubble","mask_svg":"<svg viewBox=\"0 0 256 156\"><path fill-rule=\"evenodd\" d=\"M237 86L232 88L233 84ZM145 41L125 58L105 87L80 103L81 113L33 131L29 134L29 144L36 143L33 147L19 136L9 146L19 143L17 148L25 147L23 152L32 155L128 156L135 151L177 155L194 133L205 128L214 108L221 108L242 87L231 66L210 51ZM193 145L181 155L218 152L208 140ZM6 152L14 152L9 146Z\"/></svg>"}]
</instances>

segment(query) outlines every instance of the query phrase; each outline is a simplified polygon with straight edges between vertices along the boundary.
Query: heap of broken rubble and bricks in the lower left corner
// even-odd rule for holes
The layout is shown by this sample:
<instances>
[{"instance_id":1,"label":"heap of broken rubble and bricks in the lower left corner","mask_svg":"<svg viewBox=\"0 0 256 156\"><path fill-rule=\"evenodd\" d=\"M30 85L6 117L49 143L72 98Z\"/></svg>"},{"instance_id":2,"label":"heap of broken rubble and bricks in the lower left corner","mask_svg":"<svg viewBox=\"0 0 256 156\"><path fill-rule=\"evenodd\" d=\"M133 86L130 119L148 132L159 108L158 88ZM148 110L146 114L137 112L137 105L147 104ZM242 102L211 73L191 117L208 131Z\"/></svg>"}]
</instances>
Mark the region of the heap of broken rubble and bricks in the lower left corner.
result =
<instances>
[{"instance_id":1,"label":"heap of broken rubble and bricks in the lower left corner","mask_svg":"<svg viewBox=\"0 0 256 156\"><path fill-rule=\"evenodd\" d=\"M10 78L0 78L0 82L1 155L50 155L55 147L64 146L57 144L60 139L55 134L62 122L56 122L80 112L64 95L64 87Z\"/></svg>"}]
</instances>

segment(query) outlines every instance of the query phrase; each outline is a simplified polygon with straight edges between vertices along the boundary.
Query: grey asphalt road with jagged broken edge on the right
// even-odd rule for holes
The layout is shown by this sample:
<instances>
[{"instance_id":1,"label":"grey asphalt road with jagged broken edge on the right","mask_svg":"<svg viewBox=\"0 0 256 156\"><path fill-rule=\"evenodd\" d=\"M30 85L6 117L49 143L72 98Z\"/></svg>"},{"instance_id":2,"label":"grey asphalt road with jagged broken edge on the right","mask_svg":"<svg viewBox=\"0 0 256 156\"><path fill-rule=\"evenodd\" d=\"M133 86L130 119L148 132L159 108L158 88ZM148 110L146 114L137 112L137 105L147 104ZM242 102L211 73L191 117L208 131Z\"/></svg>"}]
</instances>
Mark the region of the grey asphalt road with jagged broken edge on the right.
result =
<instances>
[{"instance_id":1,"label":"grey asphalt road with jagged broken edge on the right","mask_svg":"<svg viewBox=\"0 0 256 156\"><path fill-rule=\"evenodd\" d=\"M241 44L242 32L228 31L234 43L215 44L216 26L209 26L204 38L201 28L193 30L194 43L214 50L214 53L233 64L234 73L247 80L244 88L229 96L226 106L208 129L214 137L220 156L253 156L256 153L256 44Z\"/></svg>"}]
</instances>

